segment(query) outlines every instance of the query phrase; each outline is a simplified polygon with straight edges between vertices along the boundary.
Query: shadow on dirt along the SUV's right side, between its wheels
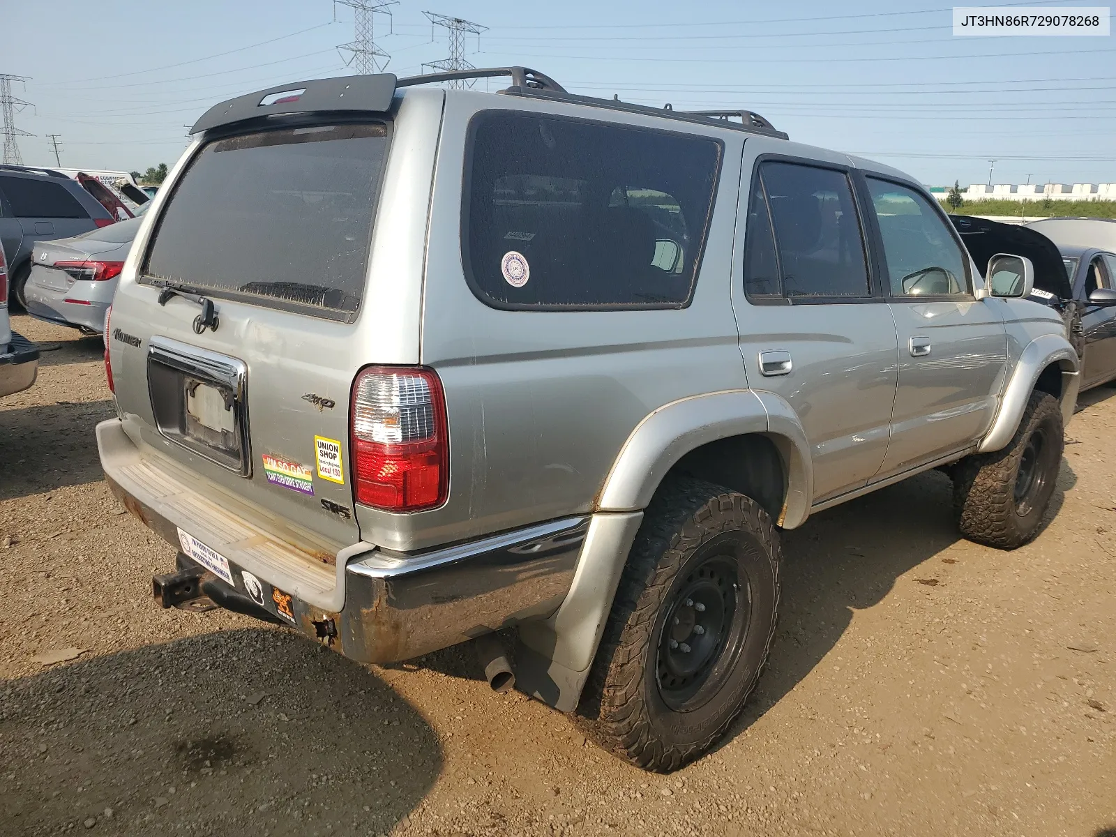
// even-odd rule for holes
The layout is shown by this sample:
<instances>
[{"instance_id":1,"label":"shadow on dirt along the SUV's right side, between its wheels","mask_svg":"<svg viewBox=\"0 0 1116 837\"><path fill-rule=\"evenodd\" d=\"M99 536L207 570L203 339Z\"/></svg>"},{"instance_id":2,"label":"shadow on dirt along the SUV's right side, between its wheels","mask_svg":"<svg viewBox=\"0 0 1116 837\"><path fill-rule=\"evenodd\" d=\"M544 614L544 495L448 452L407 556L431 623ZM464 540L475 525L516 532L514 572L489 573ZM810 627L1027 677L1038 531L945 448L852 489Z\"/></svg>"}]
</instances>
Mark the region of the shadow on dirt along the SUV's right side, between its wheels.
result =
<instances>
[{"instance_id":1,"label":"shadow on dirt along the SUV's right side, between its wheels","mask_svg":"<svg viewBox=\"0 0 1116 837\"><path fill-rule=\"evenodd\" d=\"M1062 459L1037 537L1076 484L1077 474ZM854 612L879 604L901 576L918 568L914 580L929 589L947 584L944 567L931 559L963 540L952 494L950 479L930 471L812 516L801 528L782 533L779 627L763 677L725 742L801 682L840 639ZM973 560L981 558L981 550L971 547ZM968 559L964 554L950 558Z\"/></svg>"}]
</instances>

